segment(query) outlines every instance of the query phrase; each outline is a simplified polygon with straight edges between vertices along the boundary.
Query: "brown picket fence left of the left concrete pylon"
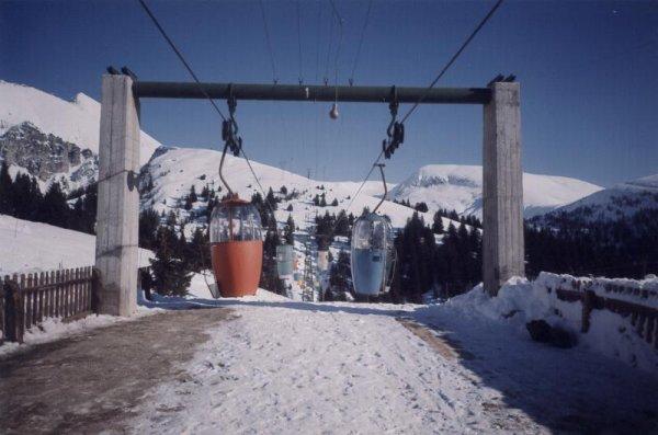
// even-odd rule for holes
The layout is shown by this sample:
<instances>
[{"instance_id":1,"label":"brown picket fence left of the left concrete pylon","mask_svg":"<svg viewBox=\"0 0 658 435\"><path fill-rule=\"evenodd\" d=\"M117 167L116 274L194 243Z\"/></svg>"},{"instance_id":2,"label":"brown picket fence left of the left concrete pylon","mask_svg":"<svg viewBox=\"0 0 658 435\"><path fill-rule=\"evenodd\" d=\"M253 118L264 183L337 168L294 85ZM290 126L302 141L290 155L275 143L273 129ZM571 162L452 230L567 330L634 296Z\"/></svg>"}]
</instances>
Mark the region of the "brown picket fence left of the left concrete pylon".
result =
<instances>
[{"instance_id":1,"label":"brown picket fence left of the left concrete pylon","mask_svg":"<svg viewBox=\"0 0 658 435\"><path fill-rule=\"evenodd\" d=\"M98 312L98 287L93 267L0 278L0 343L22 343L26 330L48 318L70 320Z\"/></svg>"}]
</instances>

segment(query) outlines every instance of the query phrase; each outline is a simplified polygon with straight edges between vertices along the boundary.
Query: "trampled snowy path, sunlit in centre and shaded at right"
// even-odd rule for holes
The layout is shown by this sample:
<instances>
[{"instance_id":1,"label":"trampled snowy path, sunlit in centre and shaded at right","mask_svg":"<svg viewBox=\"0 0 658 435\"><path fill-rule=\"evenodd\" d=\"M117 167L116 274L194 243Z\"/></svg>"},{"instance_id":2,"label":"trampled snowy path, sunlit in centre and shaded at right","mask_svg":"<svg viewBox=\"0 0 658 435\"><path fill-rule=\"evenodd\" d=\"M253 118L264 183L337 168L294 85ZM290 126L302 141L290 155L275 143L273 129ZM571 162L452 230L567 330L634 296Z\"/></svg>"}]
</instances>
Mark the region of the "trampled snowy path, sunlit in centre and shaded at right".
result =
<instances>
[{"instance_id":1,"label":"trampled snowy path, sunlit in centre and shaded at right","mask_svg":"<svg viewBox=\"0 0 658 435\"><path fill-rule=\"evenodd\" d=\"M547 433L648 430L658 380L506 325L418 306L220 301L239 316L208 329L159 386L137 433ZM458 357L405 328L439 330ZM447 355L447 356L446 356ZM179 412L159 412L180 410Z\"/></svg>"}]
</instances>

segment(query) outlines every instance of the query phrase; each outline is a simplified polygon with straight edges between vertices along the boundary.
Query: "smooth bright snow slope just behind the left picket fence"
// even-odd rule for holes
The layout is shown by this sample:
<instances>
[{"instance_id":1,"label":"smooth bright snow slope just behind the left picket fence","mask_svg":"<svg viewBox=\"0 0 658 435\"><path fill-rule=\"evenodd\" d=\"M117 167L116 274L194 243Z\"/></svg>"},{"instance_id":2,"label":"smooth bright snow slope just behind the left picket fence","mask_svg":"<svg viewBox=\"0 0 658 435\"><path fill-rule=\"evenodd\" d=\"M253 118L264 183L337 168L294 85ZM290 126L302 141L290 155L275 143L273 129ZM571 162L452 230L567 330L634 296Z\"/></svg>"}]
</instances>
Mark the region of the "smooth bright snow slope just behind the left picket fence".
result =
<instances>
[{"instance_id":1,"label":"smooth bright snow slope just behind the left picket fence","mask_svg":"<svg viewBox=\"0 0 658 435\"><path fill-rule=\"evenodd\" d=\"M140 267L151 257L139 249ZM94 259L94 236L0 215L0 276L91 266Z\"/></svg>"}]
</instances>

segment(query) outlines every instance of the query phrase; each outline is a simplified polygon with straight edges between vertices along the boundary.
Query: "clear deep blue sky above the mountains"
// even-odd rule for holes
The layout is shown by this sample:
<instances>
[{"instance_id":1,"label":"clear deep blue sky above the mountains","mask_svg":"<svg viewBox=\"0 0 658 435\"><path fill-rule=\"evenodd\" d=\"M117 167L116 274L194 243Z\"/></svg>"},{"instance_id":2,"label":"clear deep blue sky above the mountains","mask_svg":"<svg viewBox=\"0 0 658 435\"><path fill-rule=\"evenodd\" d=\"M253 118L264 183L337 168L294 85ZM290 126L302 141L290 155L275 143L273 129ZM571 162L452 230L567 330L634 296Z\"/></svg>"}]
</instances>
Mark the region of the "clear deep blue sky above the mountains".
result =
<instances>
[{"instance_id":1,"label":"clear deep blue sky above the mountains","mask_svg":"<svg viewBox=\"0 0 658 435\"><path fill-rule=\"evenodd\" d=\"M258 2L148 3L202 80L272 81ZM299 76L297 4L302 76L333 82L339 38L329 0L264 2L279 80ZM344 19L338 77L347 84L368 0L336 5ZM491 5L374 1L355 84L427 85ZM144 80L189 80L137 1L0 1L0 79L100 99L109 65L127 65ZM521 82L526 172L602 185L658 173L658 2L508 1L439 85L485 85L498 72ZM207 102L144 100L141 107L143 128L166 145L222 145ZM341 104L336 122L329 108L239 102L248 153L320 179L360 180L385 137L388 107ZM423 105L406 126L406 142L387 162L392 181L429 163L481 163L480 106Z\"/></svg>"}]
</instances>

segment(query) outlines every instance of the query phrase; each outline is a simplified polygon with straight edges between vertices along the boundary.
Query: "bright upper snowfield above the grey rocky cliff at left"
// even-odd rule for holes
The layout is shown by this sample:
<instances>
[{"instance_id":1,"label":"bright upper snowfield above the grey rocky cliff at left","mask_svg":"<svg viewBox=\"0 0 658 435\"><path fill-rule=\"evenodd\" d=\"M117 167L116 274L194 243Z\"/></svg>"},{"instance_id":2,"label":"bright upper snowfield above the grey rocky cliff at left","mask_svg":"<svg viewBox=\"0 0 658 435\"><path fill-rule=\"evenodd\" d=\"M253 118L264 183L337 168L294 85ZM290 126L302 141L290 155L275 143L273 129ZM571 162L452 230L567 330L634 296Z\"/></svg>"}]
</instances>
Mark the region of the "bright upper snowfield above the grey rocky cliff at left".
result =
<instances>
[{"instance_id":1,"label":"bright upper snowfield above the grey rocky cliff at left","mask_svg":"<svg viewBox=\"0 0 658 435\"><path fill-rule=\"evenodd\" d=\"M100 119L101 104L83 93L78 93L73 101L65 101L35 88L0 80L0 135L27 121L45 134L98 154ZM139 163L144 164L160 142L144 131L140 141Z\"/></svg>"}]
</instances>

